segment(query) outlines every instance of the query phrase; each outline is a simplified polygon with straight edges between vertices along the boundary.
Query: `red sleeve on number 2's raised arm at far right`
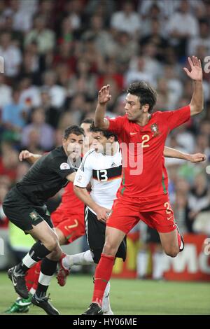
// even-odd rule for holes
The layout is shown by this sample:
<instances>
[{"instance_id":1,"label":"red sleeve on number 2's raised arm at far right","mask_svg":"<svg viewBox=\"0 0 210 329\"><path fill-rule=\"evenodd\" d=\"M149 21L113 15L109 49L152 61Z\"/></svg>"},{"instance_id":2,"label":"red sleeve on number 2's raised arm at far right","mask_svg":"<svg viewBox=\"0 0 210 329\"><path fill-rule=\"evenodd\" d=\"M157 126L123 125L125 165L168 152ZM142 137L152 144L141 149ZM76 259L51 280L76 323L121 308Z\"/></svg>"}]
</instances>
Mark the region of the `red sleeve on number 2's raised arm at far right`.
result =
<instances>
[{"instance_id":1,"label":"red sleeve on number 2's raised arm at far right","mask_svg":"<svg viewBox=\"0 0 210 329\"><path fill-rule=\"evenodd\" d=\"M179 125L186 123L190 119L190 106L181 107L181 109L174 111L161 112L165 119L165 122L169 126L170 130L173 130Z\"/></svg>"}]
</instances>

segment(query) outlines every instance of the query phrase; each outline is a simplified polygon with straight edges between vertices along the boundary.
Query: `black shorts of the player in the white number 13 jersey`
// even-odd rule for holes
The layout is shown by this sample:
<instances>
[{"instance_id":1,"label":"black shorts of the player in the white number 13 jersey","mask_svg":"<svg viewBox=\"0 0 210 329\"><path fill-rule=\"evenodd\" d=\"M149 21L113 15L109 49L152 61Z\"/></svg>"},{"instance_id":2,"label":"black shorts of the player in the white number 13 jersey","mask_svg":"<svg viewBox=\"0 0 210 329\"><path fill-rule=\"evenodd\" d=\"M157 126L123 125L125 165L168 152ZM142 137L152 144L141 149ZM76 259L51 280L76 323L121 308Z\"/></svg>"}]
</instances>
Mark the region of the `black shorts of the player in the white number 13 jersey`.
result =
<instances>
[{"instance_id":1,"label":"black shorts of the player in the white number 13 jersey","mask_svg":"<svg viewBox=\"0 0 210 329\"><path fill-rule=\"evenodd\" d=\"M90 211L86 207L85 209L85 232L87 236L87 243L90 247L90 251L92 252L92 258L94 262L97 264L101 258L102 250L104 248L105 243L105 231L106 224L100 222L97 219L97 216ZM123 258L125 262L126 258L126 237L121 242L118 252L116 253L116 257Z\"/></svg>"}]
</instances>

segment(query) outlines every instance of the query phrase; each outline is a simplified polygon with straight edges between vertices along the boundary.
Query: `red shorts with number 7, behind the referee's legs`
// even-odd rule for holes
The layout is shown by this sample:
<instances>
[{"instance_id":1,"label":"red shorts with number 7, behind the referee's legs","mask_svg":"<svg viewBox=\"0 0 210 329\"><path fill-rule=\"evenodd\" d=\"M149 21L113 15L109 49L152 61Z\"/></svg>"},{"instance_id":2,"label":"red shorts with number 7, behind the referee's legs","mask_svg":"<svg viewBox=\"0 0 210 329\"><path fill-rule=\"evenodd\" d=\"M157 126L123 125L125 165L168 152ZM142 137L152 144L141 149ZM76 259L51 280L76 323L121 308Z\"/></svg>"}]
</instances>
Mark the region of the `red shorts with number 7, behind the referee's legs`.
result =
<instances>
[{"instance_id":1,"label":"red shorts with number 7, behind the referee's legs","mask_svg":"<svg viewBox=\"0 0 210 329\"><path fill-rule=\"evenodd\" d=\"M51 218L55 228L59 228L62 231L69 244L85 235L84 214L66 214L58 209L53 211Z\"/></svg>"}]
</instances>

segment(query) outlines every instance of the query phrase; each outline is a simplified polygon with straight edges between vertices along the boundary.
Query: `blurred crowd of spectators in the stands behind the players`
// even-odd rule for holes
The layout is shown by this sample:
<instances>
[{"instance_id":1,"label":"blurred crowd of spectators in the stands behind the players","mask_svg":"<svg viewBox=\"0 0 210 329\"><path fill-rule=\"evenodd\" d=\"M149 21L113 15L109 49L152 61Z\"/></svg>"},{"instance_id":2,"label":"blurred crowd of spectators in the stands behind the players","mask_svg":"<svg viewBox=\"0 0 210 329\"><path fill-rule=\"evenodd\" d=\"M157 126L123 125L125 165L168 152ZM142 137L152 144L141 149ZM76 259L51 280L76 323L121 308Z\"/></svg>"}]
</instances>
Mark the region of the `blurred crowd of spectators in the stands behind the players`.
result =
<instances>
[{"instance_id":1,"label":"blurred crowd of spectators in the stands behind the players","mask_svg":"<svg viewBox=\"0 0 210 329\"><path fill-rule=\"evenodd\" d=\"M102 85L111 85L108 116L124 114L134 80L157 89L155 111L188 104L192 81L183 66L188 55L203 65L210 55L209 17L209 0L1 0L0 204L29 169L18 153L50 151L66 126L94 118ZM207 155L197 165L166 163L181 231L210 235L210 73L204 72L204 111L172 132L167 146Z\"/></svg>"}]
</instances>

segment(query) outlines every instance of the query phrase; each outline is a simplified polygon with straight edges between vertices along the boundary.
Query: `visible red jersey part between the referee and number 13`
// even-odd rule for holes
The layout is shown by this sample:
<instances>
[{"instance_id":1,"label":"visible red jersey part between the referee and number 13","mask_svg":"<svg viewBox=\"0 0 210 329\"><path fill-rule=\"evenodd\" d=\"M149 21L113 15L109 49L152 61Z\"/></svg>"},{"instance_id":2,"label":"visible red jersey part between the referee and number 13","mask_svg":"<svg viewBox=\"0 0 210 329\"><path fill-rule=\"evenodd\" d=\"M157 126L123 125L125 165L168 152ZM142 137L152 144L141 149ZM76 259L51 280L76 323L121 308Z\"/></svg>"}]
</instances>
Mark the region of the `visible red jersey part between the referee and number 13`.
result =
<instances>
[{"instance_id":1,"label":"visible red jersey part between the referee and number 13","mask_svg":"<svg viewBox=\"0 0 210 329\"><path fill-rule=\"evenodd\" d=\"M64 188L62 202L59 204L56 211L63 211L64 214L68 214L68 216L76 216L84 214L84 207L83 202L78 199L76 194L73 192L73 183L69 182Z\"/></svg>"}]
</instances>

